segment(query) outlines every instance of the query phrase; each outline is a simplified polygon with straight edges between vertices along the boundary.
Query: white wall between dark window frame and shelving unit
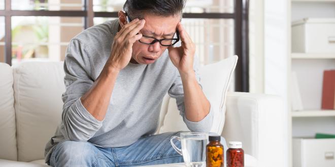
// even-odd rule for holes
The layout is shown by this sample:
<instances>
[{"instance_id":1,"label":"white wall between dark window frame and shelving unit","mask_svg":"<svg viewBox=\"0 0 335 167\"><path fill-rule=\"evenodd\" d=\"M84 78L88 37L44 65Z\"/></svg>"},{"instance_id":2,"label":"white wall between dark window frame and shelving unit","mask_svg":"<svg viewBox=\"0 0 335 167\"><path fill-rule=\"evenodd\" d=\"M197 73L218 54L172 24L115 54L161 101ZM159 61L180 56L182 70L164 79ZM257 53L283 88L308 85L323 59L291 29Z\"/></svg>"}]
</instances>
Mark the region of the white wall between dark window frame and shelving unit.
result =
<instances>
[{"instance_id":1,"label":"white wall between dark window frame and shelving unit","mask_svg":"<svg viewBox=\"0 0 335 167\"><path fill-rule=\"evenodd\" d=\"M283 98L285 110L281 125L287 132L283 134L283 148L287 157L285 166L291 166L288 116L288 74L290 39L290 3L277 0L250 1L249 49L250 49L250 92L278 95ZM270 148L269 148L270 149Z\"/></svg>"}]
</instances>

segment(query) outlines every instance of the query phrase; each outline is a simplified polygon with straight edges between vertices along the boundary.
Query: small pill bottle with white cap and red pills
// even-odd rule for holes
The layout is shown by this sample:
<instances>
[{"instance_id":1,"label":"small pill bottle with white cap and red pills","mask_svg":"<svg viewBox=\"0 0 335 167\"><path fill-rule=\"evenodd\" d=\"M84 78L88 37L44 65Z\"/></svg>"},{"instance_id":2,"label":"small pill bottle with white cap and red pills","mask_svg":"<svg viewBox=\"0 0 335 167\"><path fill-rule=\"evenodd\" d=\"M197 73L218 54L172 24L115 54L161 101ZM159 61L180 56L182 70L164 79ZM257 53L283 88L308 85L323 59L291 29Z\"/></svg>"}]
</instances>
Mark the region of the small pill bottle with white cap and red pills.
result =
<instances>
[{"instance_id":1,"label":"small pill bottle with white cap and red pills","mask_svg":"<svg viewBox=\"0 0 335 167\"><path fill-rule=\"evenodd\" d=\"M242 142L228 142L227 167L244 167Z\"/></svg>"}]
</instances>

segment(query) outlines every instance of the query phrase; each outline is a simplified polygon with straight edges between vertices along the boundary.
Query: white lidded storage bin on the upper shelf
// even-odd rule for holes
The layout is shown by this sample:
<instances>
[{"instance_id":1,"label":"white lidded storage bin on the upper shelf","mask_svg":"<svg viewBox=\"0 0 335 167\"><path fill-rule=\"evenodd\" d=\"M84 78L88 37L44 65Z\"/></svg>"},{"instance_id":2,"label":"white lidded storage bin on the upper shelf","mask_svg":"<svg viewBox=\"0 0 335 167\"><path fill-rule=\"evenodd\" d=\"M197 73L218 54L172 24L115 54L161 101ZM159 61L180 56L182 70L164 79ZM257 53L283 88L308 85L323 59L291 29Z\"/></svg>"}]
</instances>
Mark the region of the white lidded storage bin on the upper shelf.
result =
<instances>
[{"instance_id":1,"label":"white lidded storage bin on the upper shelf","mask_svg":"<svg viewBox=\"0 0 335 167\"><path fill-rule=\"evenodd\" d=\"M335 53L335 19L293 22L291 34L293 53Z\"/></svg>"}]
</instances>

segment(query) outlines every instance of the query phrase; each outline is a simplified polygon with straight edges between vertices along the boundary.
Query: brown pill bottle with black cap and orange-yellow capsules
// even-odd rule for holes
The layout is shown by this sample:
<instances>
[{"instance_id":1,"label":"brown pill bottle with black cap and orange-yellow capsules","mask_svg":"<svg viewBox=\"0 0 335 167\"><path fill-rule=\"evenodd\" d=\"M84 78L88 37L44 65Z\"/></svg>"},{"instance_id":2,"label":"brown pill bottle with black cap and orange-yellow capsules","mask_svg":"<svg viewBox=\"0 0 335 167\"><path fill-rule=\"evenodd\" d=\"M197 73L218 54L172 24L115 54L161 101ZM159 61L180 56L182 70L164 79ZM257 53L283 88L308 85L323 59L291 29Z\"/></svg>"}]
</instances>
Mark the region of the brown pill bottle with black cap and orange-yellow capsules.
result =
<instances>
[{"instance_id":1,"label":"brown pill bottle with black cap and orange-yellow capsules","mask_svg":"<svg viewBox=\"0 0 335 167\"><path fill-rule=\"evenodd\" d=\"M206 166L222 166L224 164L224 151L220 143L221 136L209 136L209 144L206 146Z\"/></svg>"}]
</instances>

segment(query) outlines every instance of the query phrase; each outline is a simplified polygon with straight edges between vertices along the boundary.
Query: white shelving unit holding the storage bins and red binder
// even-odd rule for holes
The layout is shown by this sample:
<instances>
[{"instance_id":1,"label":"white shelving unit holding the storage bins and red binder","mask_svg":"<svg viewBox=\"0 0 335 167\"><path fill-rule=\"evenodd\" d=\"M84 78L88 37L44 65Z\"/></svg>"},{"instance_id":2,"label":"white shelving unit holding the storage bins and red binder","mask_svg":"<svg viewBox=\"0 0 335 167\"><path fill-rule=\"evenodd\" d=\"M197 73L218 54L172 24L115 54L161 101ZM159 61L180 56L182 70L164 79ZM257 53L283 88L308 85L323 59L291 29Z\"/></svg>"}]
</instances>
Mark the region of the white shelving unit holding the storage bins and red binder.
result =
<instances>
[{"instance_id":1,"label":"white shelving unit holding the storage bins and red binder","mask_svg":"<svg viewBox=\"0 0 335 167\"><path fill-rule=\"evenodd\" d=\"M303 18L335 18L335 0L290 0L289 7L290 23ZM288 43L291 45L291 39ZM288 57L288 69L296 72L304 108L289 112L290 143L292 138L314 138L316 133L335 134L335 110L321 109L323 71L335 69L335 53L290 53ZM288 101L292 103L290 98Z\"/></svg>"}]
</instances>

